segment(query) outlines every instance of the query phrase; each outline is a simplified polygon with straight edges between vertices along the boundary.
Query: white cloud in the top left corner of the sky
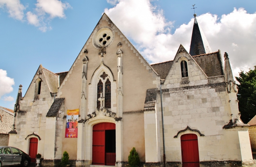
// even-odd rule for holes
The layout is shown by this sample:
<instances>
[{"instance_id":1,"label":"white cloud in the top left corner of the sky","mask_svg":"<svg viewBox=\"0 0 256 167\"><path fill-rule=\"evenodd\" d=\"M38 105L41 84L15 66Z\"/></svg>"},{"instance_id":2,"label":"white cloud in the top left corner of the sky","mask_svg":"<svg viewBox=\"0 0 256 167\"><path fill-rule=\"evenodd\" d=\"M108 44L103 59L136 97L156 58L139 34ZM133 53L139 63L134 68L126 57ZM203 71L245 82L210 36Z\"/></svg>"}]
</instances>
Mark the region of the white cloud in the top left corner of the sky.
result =
<instances>
[{"instance_id":1,"label":"white cloud in the top left corner of the sky","mask_svg":"<svg viewBox=\"0 0 256 167\"><path fill-rule=\"evenodd\" d=\"M7 8L8 13L11 17L17 20L22 20L25 10L25 6L20 3L20 0L0 0L0 7Z\"/></svg>"}]
</instances>

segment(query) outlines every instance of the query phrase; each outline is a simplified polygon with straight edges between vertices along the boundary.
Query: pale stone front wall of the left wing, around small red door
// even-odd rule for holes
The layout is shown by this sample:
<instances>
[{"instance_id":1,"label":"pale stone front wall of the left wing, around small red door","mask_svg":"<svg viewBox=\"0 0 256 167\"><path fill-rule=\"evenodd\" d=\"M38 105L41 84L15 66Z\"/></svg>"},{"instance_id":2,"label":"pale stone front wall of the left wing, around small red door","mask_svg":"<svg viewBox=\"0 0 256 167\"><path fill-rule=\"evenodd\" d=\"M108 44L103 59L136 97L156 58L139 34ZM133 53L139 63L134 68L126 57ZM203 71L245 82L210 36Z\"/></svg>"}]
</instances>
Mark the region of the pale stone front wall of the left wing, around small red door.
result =
<instances>
[{"instance_id":1,"label":"pale stone front wall of the left wing, around small red door","mask_svg":"<svg viewBox=\"0 0 256 167\"><path fill-rule=\"evenodd\" d=\"M39 67L37 72L42 72ZM41 93L37 95L36 80L40 78ZM32 134L39 135L41 140L38 141L38 153L42 154L44 158L45 140L50 136L46 135L49 131L48 123L46 122L46 114L54 101L54 97L50 95L46 80L41 75L35 75L31 85L29 86L26 94L20 101L20 111L17 112L16 119L16 131L17 135L10 135L9 145L20 148L22 151L29 152L29 139L25 138ZM25 111L25 112L23 112ZM31 136L36 137L36 136ZM55 137L55 135L54 135ZM37 138L37 137L36 137ZM54 149L54 147L53 147Z\"/></svg>"}]
</instances>

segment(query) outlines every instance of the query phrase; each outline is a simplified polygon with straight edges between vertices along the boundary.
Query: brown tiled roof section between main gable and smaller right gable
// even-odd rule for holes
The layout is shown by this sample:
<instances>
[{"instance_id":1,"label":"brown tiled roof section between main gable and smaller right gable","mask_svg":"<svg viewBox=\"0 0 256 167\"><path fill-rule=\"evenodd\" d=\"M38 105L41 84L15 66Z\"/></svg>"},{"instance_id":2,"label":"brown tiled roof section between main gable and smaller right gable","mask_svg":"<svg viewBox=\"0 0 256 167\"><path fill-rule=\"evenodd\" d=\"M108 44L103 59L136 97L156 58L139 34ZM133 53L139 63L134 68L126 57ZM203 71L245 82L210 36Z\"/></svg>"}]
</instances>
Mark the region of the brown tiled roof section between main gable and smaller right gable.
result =
<instances>
[{"instance_id":1,"label":"brown tiled roof section between main gable and smaller right gable","mask_svg":"<svg viewBox=\"0 0 256 167\"><path fill-rule=\"evenodd\" d=\"M150 65L151 67L154 68L157 74L160 75L161 79L166 79L172 63L173 63L173 60L164 61L162 63L150 64Z\"/></svg>"}]
</instances>

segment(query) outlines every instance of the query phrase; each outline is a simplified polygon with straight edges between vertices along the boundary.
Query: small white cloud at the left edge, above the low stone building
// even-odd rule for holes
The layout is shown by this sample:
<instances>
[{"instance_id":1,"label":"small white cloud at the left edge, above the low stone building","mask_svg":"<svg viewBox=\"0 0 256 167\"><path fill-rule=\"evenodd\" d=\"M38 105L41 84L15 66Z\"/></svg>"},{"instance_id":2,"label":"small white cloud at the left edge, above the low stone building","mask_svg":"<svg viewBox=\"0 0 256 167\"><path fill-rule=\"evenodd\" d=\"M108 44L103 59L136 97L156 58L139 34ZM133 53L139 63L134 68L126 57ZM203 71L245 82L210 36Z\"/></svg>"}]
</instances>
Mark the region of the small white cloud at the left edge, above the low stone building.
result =
<instances>
[{"instance_id":1,"label":"small white cloud at the left edge, above the low stone building","mask_svg":"<svg viewBox=\"0 0 256 167\"><path fill-rule=\"evenodd\" d=\"M7 72L0 69L0 98L13 91L14 79L7 77Z\"/></svg>"}]
</instances>

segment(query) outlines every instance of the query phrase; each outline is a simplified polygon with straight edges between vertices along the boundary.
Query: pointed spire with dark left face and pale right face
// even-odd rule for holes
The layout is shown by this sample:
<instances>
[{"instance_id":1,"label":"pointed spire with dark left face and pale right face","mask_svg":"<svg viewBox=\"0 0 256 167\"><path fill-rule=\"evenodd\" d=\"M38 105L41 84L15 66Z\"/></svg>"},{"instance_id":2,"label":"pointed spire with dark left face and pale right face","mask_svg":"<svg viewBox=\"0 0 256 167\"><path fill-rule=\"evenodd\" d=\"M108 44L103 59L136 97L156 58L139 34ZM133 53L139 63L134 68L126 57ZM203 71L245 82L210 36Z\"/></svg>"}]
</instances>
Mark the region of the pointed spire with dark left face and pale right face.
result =
<instances>
[{"instance_id":1,"label":"pointed spire with dark left face and pale right face","mask_svg":"<svg viewBox=\"0 0 256 167\"><path fill-rule=\"evenodd\" d=\"M194 27L192 31L189 54L191 56L211 53L210 45L204 36L202 28L197 23L196 14L194 14Z\"/></svg>"}]
</instances>

